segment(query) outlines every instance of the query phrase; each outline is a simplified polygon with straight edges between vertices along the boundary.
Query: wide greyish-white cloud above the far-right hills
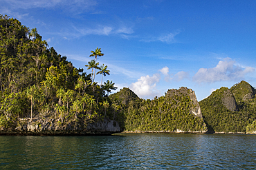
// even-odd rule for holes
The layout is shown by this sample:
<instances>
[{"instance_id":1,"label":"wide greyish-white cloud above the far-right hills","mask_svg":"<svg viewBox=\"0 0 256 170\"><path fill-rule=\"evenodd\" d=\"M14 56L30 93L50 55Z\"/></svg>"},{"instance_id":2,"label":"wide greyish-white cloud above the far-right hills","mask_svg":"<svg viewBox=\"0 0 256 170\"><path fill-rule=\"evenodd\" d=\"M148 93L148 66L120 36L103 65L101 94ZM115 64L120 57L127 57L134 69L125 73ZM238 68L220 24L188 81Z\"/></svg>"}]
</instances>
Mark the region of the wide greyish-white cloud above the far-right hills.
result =
<instances>
[{"instance_id":1,"label":"wide greyish-white cloud above the far-right hills","mask_svg":"<svg viewBox=\"0 0 256 170\"><path fill-rule=\"evenodd\" d=\"M214 68L200 68L193 77L197 83L214 83L217 81L238 81L250 72L255 72L253 67L241 67L235 65L235 61L230 58L219 61Z\"/></svg>"}]
</instances>

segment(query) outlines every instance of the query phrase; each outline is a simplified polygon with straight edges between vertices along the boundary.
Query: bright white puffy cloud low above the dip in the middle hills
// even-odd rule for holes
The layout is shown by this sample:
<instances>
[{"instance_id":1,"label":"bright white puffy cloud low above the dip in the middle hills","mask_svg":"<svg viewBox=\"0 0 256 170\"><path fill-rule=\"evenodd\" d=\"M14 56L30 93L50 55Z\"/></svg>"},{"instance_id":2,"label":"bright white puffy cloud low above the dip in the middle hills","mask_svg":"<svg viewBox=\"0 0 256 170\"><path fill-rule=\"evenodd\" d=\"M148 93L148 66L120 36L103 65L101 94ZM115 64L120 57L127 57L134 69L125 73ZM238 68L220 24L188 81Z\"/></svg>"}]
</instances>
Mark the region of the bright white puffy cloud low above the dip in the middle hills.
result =
<instances>
[{"instance_id":1,"label":"bright white puffy cloud low above the dip in the middle hills","mask_svg":"<svg viewBox=\"0 0 256 170\"><path fill-rule=\"evenodd\" d=\"M158 74L141 76L136 83L131 83L130 88L140 98L154 98L159 94L155 87L160 79L161 77Z\"/></svg>"}]
</instances>

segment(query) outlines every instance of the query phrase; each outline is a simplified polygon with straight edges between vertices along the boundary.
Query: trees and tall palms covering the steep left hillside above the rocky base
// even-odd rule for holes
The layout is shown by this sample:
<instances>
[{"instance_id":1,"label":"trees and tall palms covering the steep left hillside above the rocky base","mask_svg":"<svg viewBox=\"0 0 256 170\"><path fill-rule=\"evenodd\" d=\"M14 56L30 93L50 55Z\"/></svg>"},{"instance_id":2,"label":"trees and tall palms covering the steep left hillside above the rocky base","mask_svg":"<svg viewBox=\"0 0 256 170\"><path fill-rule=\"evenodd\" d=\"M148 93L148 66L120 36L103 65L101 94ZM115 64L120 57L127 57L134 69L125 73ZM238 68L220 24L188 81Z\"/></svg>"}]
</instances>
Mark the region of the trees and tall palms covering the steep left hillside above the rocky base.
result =
<instances>
[{"instance_id":1,"label":"trees and tall palms covering the steep left hillside above the rocky base","mask_svg":"<svg viewBox=\"0 0 256 170\"><path fill-rule=\"evenodd\" d=\"M73 67L66 56L48 47L36 28L0 14L0 127L15 127L21 120L54 118L59 125L86 125L113 118L108 98L112 81L94 82L95 74L109 74L98 67L100 48L91 51L91 74ZM100 70L99 72L95 72Z\"/></svg>"}]
</instances>

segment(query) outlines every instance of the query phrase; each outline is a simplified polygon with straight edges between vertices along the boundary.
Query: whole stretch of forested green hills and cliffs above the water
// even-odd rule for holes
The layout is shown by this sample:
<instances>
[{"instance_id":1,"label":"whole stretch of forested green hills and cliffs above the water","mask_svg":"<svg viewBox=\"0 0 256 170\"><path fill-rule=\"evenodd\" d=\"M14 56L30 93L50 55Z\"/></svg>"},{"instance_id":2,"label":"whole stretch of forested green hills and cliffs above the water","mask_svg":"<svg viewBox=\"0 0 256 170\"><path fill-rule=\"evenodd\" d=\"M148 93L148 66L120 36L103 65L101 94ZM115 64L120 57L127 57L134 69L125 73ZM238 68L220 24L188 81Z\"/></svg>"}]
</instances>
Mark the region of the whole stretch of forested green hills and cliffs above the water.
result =
<instances>
[{"instance_id":1,"label":"whole stretch of forested green hills and cliffs above the water","mask_svg":"<svg viewBox=\"0 0 256 170\"><path fill-rule=\"evenodd\" d=\"M111 70L97 62L100 48L91 51L86 73L36 28L0 14L0 29L0 134L256 133L256 91L245 81L200 102L187 87L153 100L129 88L109 95L116 87L104 81Z\"/></svg>"}]
</instances>

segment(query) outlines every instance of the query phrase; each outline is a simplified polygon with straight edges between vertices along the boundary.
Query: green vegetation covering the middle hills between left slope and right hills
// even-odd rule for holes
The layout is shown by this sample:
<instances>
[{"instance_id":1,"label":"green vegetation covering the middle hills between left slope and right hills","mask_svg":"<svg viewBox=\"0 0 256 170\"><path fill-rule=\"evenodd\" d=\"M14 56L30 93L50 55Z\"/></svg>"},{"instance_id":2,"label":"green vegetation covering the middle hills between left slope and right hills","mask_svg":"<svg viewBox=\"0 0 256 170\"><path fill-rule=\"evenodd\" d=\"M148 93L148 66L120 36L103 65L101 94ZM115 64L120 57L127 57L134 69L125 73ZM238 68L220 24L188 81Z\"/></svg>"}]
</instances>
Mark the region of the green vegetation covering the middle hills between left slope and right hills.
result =
<instances>
[{"instance_id":1,"label":"green vegetation covering the middle hills between left slope and right hills","mask_svg":"<svg viewBox=\"0 0 256 170\"><path fill-rule=\"evenodd\" d=\"M176 91L172 97L168 91L154 100L143 100L124 88L110 98L125 116L126 131L206 131L203 119L190 113L194 107L190 96Z\"/></svg>"}]
</instances>

